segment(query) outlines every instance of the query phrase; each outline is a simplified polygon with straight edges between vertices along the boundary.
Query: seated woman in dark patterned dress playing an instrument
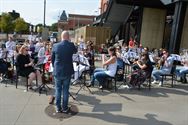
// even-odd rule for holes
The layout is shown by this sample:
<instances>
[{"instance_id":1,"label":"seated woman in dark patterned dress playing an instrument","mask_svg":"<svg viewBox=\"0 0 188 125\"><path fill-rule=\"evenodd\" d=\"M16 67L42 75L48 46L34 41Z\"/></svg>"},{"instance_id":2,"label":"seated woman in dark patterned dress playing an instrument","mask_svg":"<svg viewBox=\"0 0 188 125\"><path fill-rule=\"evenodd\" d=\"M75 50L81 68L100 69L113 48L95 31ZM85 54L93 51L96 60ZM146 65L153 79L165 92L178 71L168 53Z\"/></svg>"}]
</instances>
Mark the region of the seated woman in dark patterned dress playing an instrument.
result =
<instances>
[{"instance_id":1,"label":"seated woman in dark patterned dress playing an instrument","mask_svg":"<svg viewBox=\"0 0 188 125\"><path fill-rule=\"evenodd\" d=\"M144 83L147 77L150 76L153 66L149 60L149 55L147 52L141 54L141 60L135 62L138 69L131 73L130 85L137 86Z\"/></svg>"}]
</instances>

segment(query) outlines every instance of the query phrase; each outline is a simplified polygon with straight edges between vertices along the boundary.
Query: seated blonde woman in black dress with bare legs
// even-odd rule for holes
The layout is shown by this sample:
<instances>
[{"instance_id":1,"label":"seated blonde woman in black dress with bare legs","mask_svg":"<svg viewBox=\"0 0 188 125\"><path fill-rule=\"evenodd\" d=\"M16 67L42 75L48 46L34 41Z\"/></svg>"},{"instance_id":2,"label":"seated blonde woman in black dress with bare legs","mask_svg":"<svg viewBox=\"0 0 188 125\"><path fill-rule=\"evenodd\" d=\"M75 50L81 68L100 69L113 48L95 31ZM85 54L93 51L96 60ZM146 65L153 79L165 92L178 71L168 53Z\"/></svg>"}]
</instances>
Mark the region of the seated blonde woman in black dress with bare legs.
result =
<instances>
[{"instance_id":1,"label":"seated blonde woman in black dress with bare legs","mask_svg":"<svg viewBox=\"0 0 188 125\"><path fill-rule=\"evenodd\" d=\"M28 76L28 85L31 86L32 81L36 78L36 76L38 83L41 83L42 80L40 72L35 70L33 67L33 61L28 54L28 50L27 46L22 45L16 58L16 66L21 76ZM30 89L32 89L32 87L30 87Z\"/></svg>"}]
</instances>

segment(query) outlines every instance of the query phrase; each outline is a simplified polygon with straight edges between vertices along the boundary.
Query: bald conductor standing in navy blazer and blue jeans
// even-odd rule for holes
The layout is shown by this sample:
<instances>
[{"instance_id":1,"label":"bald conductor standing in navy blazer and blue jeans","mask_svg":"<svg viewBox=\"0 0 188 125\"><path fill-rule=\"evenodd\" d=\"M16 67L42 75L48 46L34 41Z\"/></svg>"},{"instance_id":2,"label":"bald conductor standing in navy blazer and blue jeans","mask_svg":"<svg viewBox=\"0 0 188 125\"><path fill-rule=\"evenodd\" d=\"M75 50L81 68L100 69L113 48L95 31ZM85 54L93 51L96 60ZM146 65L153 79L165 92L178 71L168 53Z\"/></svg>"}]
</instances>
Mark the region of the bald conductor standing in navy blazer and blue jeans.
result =
<instances>
[{"instance_id":1,"label":"bald conductor standing in navy blazer and blue jeans","mask_svg":"<svg viewBox=\"0 0 188 125\"><path fill-rule=\"evenodd\" d=\"M52 48L52 66L55 79L56 112L68 113L69 85L71 75L74 74L72 55L77 52L76 47L69 40L69 32L63 31L61 42L54 44ZM63 99L61 105L61 93Z\"/></svg>"}]
</instances>

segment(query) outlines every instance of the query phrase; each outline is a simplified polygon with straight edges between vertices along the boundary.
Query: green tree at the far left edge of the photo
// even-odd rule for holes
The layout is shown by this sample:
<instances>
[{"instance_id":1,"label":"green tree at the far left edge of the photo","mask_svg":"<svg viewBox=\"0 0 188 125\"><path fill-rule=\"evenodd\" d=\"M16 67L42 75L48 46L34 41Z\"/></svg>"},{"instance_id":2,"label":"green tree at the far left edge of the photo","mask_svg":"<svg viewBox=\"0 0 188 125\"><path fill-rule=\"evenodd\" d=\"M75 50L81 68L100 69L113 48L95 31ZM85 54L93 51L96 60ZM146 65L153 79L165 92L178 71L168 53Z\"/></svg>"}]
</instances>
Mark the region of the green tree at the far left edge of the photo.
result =
<instances>
[{"instance_id":1,"label":"green tree at the far left edge of the photo","mask_svg":"<svg viewBox=\"0 0 188 125\"><path fill-rule=\"evenodd\" d=\"M1 20L0 20L0 28L2 32L7 34L8 39L8 33L14 31L14 23L13 18L8 13L2 13Z\"/></svg>"}]
</instances>

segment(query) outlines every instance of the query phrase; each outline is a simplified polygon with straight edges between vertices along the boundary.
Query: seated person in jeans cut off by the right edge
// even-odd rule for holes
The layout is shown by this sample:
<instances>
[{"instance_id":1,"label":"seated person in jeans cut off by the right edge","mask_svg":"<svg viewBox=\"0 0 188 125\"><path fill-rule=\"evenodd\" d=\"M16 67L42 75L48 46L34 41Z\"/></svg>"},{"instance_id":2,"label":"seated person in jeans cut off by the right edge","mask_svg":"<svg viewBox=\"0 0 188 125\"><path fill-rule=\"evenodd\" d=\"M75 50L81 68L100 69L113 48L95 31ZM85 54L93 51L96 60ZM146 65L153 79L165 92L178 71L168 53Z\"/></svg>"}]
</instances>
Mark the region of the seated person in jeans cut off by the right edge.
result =
<instances>
[{"instance_id":1,"label":"seated person in jeans cut off by the right edge","mask_svg":"<svg viewBox=\"0 0 188 125\"><path fill-rule=\"evenodd\" d=\"M180 81L187 83L186 74L188 73L188 60L182 61L183 67L176 69L176 75L180 77Z\"/></svg>"}]
</instances>

